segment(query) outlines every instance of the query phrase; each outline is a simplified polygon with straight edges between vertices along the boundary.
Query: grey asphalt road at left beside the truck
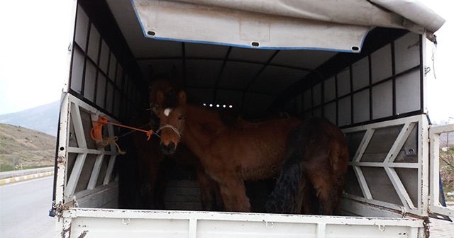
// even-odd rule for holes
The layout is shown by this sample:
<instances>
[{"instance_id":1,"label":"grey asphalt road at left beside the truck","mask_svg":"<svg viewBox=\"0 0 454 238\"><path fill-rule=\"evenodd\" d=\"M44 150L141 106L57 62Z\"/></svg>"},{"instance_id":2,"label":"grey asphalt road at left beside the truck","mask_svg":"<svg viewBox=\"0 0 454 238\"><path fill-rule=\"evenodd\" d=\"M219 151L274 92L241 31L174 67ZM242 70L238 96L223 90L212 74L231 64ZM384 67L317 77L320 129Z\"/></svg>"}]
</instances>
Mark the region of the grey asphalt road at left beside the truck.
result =
<instances>
[{"instance_id":1,"label":"grey asphalt road at left beside the truck","mask_svg":"<svg viewBox=\"0 0 454 238\"><path fill-rule=\"evenodd\" d=\"M55 237L55 220L49 217L53 177L0 186L0 237Z\"/></svg>"}]
</instances>

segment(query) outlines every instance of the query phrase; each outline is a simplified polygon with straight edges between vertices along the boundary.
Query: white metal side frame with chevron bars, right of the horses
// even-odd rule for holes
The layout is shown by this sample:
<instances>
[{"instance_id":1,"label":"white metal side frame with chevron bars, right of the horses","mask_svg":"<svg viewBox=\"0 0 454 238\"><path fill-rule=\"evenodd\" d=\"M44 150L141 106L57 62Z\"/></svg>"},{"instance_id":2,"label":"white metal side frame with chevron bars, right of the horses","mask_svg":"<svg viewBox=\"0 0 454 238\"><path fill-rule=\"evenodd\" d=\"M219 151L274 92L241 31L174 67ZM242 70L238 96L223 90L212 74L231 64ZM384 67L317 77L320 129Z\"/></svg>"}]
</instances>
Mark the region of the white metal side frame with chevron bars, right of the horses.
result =
<instances>
[{"instance_id":1,"label":"white metal side frame with chevron bars, right of the horses","mask_svg":"<svg viewBox=\"0 0 454 238\"><path fill-rule=\"evenodd\" d=\"M402 130L399 132L394 144L387 153L383 162L362 162L362 156L365 152L365 149L370 143L372 136L374 135L375 130L380 128L387 128L394 125L403 125ZM417 148L417 157L418 163L394 163L397 154L402 149L402 146L406 142L406 139L409 137L411 130L416 126L418 132L418 148ZM344 198L351 200L351 203L369 203L372 205L377 205L383 207L385 210L392 210L393 212L405 217L407 214L413 214L417 216L425 217L428 215L428 120L426 115L415 115L408 118L401 118L397 120L390 120L382 123L374 123L370 125L360 125L354 128L344 129L343 132L348 135L353 132L365 131L364 136L358 150L353 154L353 159L349 162L349 166L353 167L356 177L358 178L358 183L362 191L362 197L354 196L352 194L345 193ZM350 152L351 153L351 152ZM371 188L367 184L364 174L362 174L362 167L380 167L386 171L389 180L392 182L392 186L397 191L399 199L403 205L397 205L392 203L387 203L382 200L376 200L373 198L372 193L370 192ZM406 191L402 180L397 175L395 169L397 168L406 168L406 169L417 169L418 170L418 189L417 191ZM417 193L418 202L414 204L409 196L409 193ZM376 212L371 211L371 214L364 215L374 215Z\"/></svg>"}]
</instances>

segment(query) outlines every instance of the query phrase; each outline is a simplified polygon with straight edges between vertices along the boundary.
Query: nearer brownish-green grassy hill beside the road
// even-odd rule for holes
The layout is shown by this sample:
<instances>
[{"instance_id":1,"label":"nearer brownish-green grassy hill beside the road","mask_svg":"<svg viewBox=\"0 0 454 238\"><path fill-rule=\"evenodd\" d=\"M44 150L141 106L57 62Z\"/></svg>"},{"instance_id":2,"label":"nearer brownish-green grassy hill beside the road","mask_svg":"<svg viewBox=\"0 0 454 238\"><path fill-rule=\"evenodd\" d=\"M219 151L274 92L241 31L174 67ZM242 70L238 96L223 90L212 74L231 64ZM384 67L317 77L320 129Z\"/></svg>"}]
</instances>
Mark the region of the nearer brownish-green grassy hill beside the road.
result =
<instances>
[{"instance_id":1,"label":"nearer brownish-green grassy hill beside the road","mask_svg":"<svg viewBox=\"0 0 454 238\"><path fill-rule=\"evenodd\" d=\"M57 138L15 125L0 123L0 171L53 166Z\"/></svg>"}]
</instances>

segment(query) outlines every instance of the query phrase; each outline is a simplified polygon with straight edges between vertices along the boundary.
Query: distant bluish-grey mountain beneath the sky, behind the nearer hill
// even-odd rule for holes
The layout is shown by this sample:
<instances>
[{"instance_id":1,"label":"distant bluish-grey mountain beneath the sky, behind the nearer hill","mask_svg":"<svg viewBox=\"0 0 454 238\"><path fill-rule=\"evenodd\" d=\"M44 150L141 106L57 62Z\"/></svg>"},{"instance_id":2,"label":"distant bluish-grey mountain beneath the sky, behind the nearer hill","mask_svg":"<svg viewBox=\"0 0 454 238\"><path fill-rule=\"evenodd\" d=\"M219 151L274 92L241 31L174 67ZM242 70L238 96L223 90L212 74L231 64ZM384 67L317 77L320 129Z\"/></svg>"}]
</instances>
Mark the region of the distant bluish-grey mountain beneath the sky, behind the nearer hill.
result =
<instances>
[{"instance_id":1,"label":"distant bluish-grey mountain beneath the sky, behind the nearer hill","mask_svg":"<svg viewBox=\"0 0 454 238\"><path fill-rule=\"evenodd\" d=\"M17 113L0 115L0 123L18 125L57 136L60 101L27 109Z\"/></svg>"}]
</instances>

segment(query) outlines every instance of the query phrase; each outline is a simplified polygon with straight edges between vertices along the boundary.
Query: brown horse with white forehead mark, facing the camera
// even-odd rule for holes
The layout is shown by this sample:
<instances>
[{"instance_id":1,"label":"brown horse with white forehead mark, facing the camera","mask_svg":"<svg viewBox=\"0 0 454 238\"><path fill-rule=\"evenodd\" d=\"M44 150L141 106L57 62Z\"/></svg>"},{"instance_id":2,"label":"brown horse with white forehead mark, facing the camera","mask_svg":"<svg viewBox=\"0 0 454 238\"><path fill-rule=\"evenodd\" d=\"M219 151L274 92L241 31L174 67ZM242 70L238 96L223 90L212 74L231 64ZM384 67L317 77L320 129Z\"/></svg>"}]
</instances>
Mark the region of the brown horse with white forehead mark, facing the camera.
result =
<instances>
[{"instance_id":1,"label":"brown horse with white forehead mark, facing the camera","mask_svg":"<svg viewBox=\"0 0 454 238\"><path fill-rule=\"evenodd\" d=\"M157 101L162 105L155 111L161 123L162 152L175 153L181 140L218 182L226 210L249 212L244 181L279 174L287 134L300 121L289 118L231 126L218 112L187 103L184 91L177 98L167 99L163 92L157 92Z\"/></svg>"}]
</instances>

